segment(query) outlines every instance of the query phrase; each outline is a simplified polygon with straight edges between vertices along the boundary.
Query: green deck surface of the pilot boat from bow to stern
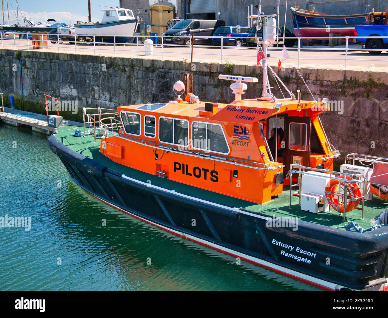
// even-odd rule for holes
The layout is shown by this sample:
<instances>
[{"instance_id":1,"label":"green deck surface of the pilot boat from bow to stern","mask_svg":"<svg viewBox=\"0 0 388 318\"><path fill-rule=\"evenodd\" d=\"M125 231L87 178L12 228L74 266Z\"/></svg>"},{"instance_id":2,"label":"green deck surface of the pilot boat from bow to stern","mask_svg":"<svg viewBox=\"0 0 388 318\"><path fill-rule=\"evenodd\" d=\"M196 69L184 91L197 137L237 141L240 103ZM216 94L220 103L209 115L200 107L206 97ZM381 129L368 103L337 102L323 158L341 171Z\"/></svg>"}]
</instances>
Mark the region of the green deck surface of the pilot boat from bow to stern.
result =
<instances>
[{"instance_id":1,"label":"green deck surface of the pilot boat from bow to stern","mask_svg":"<svg viewBox=\"0 0 388 318\"><path fill-rule=\"evenodd\" d=\"M73 149L74 151L82 154L85 157L93 159L108 168L119 171L126 176L136 178L147 182L151 180L153 185L158 185L160 187L173 188L174 190L193 195L196 197L201 197L213 202L222 202L223 204L229 204L234 207L244 208L253 212L260 212L267 214L268 216L294 216L298 217L303 221L308 221L312 223L317 223L326 226L341 226L346 225L347 221L357 221L363 228L368 228L370 226L370 219L374 218L377 214L381 213L384 209L388 207L388 203L383 203L378 199L372 201L365 200L364 207L364 219L361 219L361 210L354 209L346 213L347 221L343 223L343 217L338 214L338 212L330 213L318 213L313 214L305 211L301 211L299 204L299 198L292 196L291 197L291 209L289 209L289 191L287 187L279 197L267 202L265 204L255 204L249 201L236 199L229 197L227 195L218 194L201 188L196 188L191 185L185 185L183 183L178 183L176 181L171 181L168 179L160 178L159 176L150 175L148 173L138 171L116 162L111 161L109 158L104 156L99 152L100 149L100 140L93 142L92 135L86 135L85 138L74 137L74 131L82 128L77 126L61 126L55 136L57 139L62 142L64 145ZM359 207L361 204L359 205Z\"/></svg>"}]
</instances>

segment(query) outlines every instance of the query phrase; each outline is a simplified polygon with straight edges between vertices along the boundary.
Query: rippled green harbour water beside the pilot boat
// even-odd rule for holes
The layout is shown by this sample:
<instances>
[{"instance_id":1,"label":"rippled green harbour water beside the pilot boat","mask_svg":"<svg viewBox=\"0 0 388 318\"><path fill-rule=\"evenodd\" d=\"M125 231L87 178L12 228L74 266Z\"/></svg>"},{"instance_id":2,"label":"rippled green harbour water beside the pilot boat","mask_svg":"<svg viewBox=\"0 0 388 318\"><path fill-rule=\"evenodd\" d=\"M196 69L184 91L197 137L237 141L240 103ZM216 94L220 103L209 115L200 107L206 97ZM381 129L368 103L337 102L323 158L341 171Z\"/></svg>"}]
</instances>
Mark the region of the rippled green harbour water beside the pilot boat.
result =
<instances>
[{"instance_id":1,"label":"rippled green harbour water beside the pilot boat","mask_svg":"<svg viewBox=\"0 0 388 318\"><path fill-rule=\"evenodd\" d=\"M31 217L0 228L0 290L315 290L95 199L43 135L0 123L0 162L0 217Z\"/></svg>"}]
</instances>

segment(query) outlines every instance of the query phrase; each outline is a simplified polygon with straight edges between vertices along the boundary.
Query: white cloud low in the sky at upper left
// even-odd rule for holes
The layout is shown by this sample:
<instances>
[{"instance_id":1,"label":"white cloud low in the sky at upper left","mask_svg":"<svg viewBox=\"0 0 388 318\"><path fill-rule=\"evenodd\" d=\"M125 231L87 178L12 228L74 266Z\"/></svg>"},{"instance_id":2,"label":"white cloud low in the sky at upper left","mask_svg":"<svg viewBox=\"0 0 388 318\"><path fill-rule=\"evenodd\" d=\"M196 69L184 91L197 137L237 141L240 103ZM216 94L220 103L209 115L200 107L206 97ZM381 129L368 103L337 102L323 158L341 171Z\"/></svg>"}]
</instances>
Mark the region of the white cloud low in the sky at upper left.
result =
<instances>
[{"instance_id":1,"label":"white cloud low in the sky at upper left","mask_svg":"<svg viewBox=\"0 0 388 318\"><path fill-rule=\"evenodd\" d=\"M7 11L4 12L5 19L8 18ZM58 22L64 22L67 24L74 24L75 21L88 21L87 16L83 16L82 14L78 13L71 13L66 11L61 12L25 12L25 11L19 11L19 20L23 20L23 17L30 17L34 19L35 21L47 21L47 19L55 19ZM16 20L17 16L16 14L9 10L9 19L10 20ZM101 21L101 17L95 18L92 17L92 21ZM11 21L10 23L16 23L16 21ZM23 21L19 21L19 24L21 26L24 26Z\"/></svg>"}]
</instances>

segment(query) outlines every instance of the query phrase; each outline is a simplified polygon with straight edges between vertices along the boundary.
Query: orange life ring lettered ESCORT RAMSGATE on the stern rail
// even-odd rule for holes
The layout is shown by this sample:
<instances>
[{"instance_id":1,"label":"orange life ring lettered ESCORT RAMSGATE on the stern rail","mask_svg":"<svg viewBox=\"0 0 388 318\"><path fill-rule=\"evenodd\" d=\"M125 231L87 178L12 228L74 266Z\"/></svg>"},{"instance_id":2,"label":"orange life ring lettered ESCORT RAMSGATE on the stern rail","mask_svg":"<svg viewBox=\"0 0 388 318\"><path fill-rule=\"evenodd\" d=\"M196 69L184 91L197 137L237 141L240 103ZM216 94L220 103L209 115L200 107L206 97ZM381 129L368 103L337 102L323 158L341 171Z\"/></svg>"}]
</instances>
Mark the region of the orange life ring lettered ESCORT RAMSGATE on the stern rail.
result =
<instances>
[{"instance_id":1,"label":"orange life ring lettered ESCORT RAMSGATE on the stern rail","mask_svg":"<svg viewBox=\"0 0 388 318\"><path fill-rule=\"evenodd\" d=\"M339 176L338 178L344 178L344 176ZM346 176L347 180L352 180L349 176ZM325 197L327 203L336 211L343 213L343 202L339 202L338 196L335 195L338 192L339 186L344 186L343 181L338 181L335 179L331 179L329 183L327 183ZM357 207L360 203L361 191L356 183L346 183L346 190L348 191L348 199L350 201L346 204L345 213L352 211L355 207ZM357 199L358 198L358 199Z\"/></svg>"}]
</instances>

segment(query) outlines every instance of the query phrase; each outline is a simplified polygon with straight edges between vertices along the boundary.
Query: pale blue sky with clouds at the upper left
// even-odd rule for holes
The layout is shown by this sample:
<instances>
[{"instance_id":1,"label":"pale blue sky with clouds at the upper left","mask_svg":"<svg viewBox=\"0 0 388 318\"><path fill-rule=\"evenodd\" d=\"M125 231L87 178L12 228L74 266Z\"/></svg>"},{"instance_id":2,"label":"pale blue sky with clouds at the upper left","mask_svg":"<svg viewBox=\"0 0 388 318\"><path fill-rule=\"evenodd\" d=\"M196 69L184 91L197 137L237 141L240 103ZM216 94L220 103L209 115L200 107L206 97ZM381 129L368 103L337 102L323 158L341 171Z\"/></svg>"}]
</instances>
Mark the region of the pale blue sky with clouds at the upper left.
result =
<instances>
[{"instance_id":1,"label":"pale blue sky with clouds at the upper left","mask_svg":"<svg viewBox=\"0 0 388 318\"><path fill-rule=\"evenodd\" d=\"M8 19L7 16L7 0L4 2L4 16L5 20ZM16 0L8 0L9 7L9 18L10 20L16 19L16 14L12 9L12 6L16 12ZM34 19L35 21L47 21L47 19L52 18L60 22L65 23L74 23L74 21L88 21L88 0L66 0L66 1L56 1L56 0L18 0L19 7L22 11L23 17L28 16ZM119 5L119 0L91 0L92 7L92 21L101 21L102 18L102 6L117 7ZM1 1L0 1L1 7ZM137 9L137 8L128 8L128 9ZM21 17L19 11L19 19ZM2 13L0 12L0 24L3 23ZM16 22L11 22L16 23ZM21 22L21 25L24 25Z\"/></svg>"}]
</instances>

